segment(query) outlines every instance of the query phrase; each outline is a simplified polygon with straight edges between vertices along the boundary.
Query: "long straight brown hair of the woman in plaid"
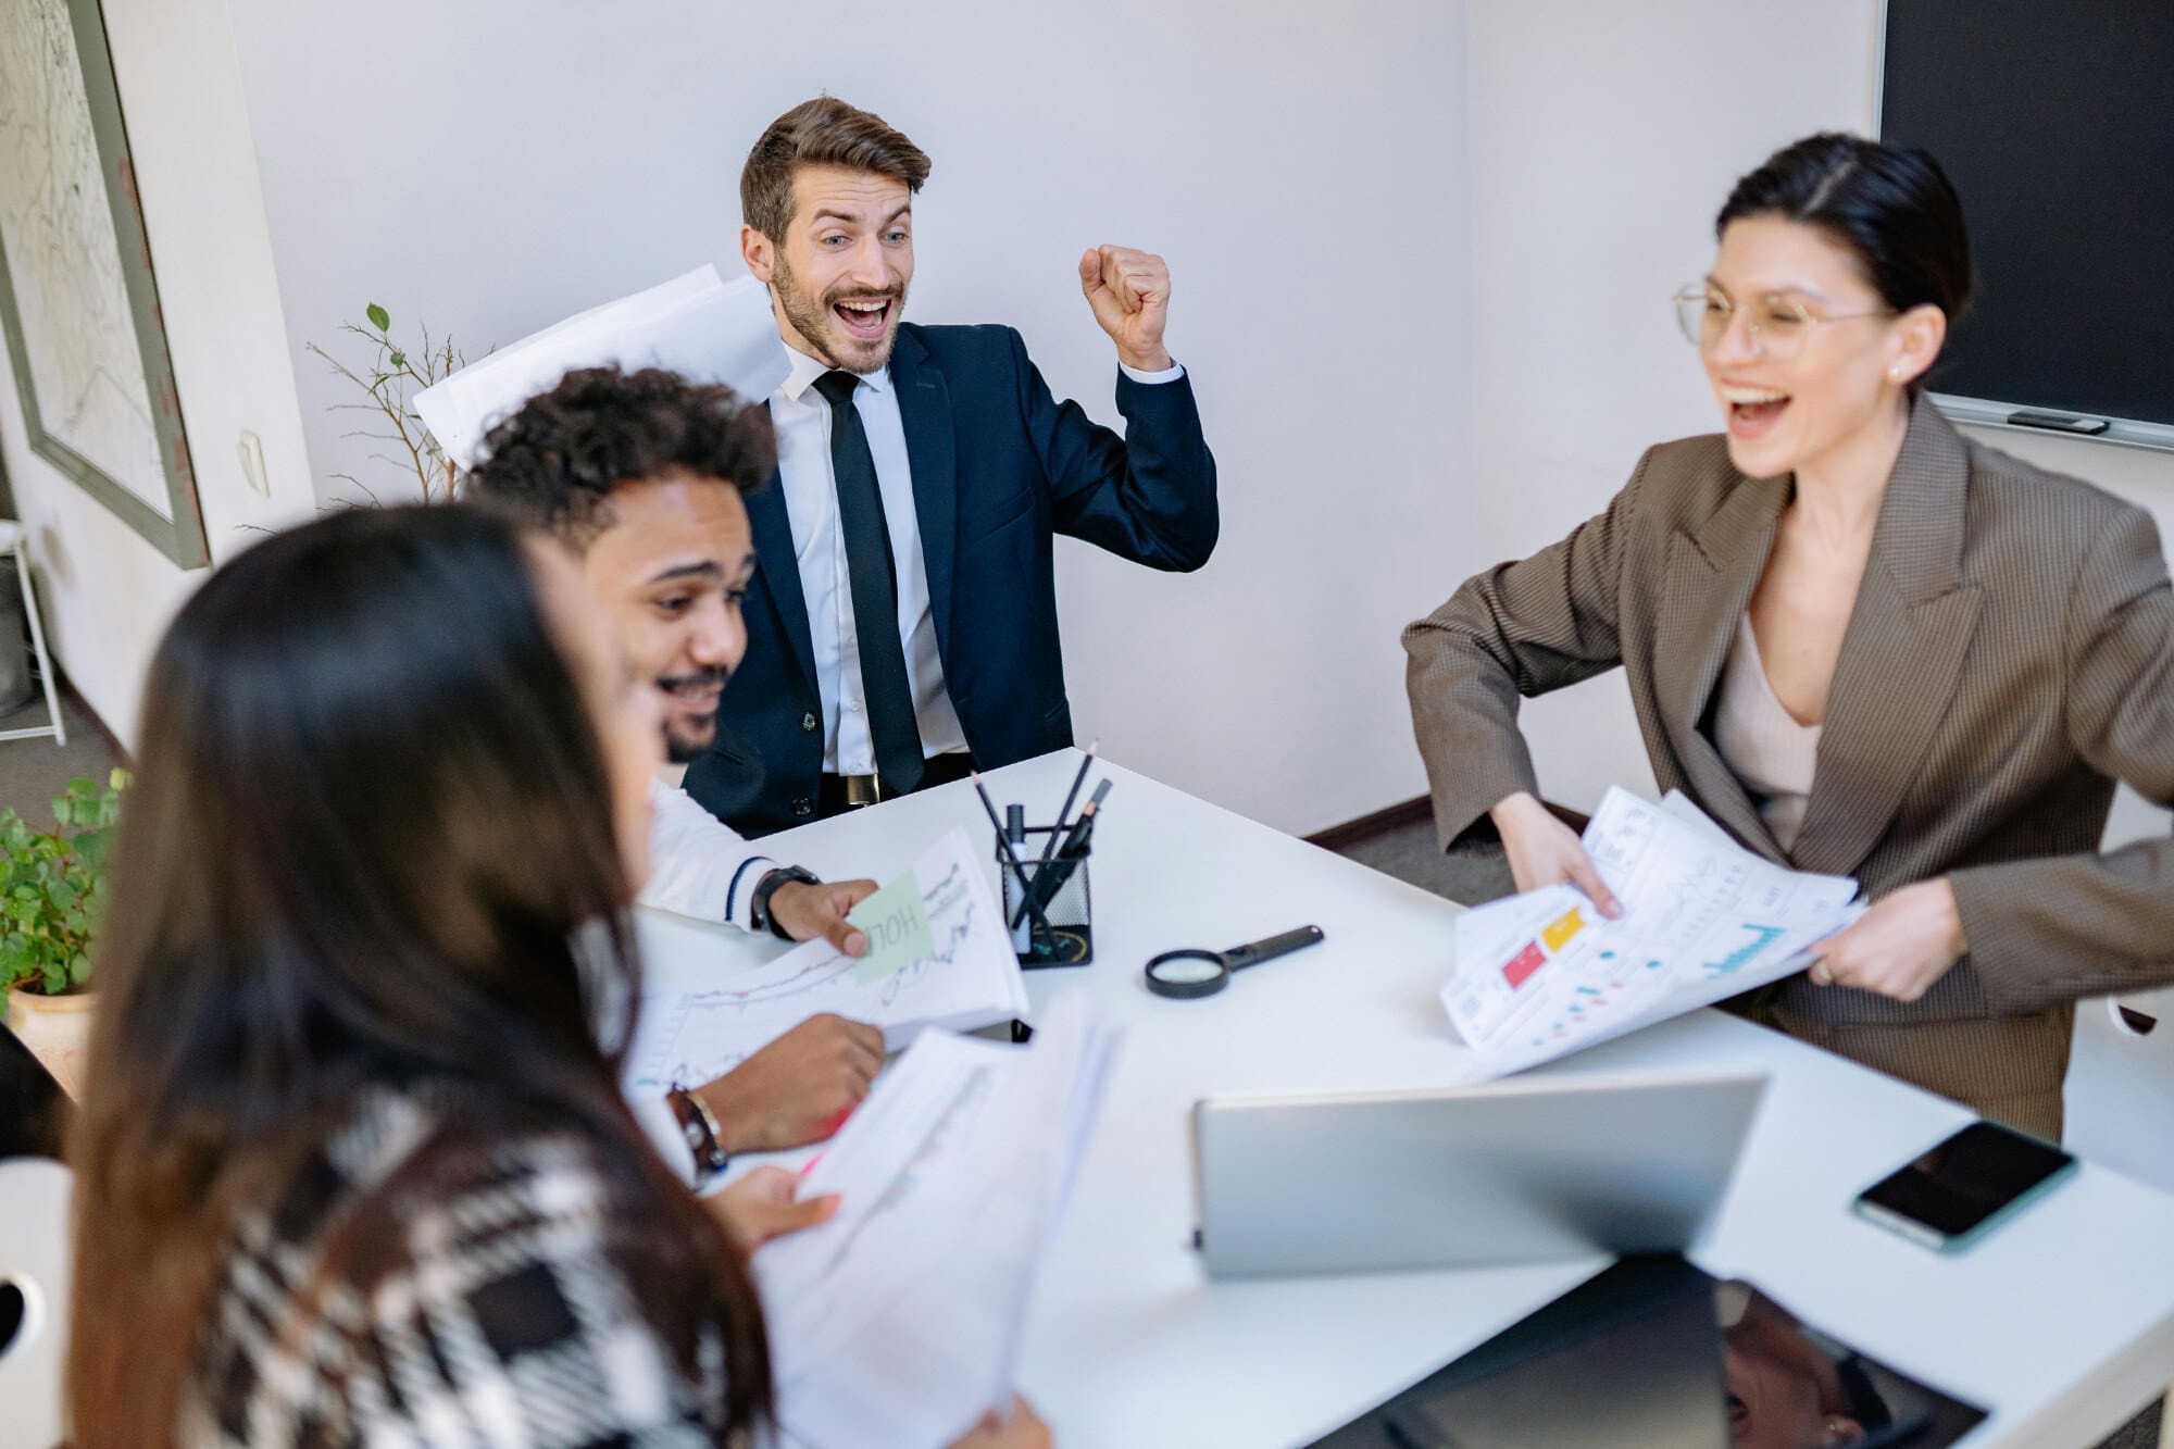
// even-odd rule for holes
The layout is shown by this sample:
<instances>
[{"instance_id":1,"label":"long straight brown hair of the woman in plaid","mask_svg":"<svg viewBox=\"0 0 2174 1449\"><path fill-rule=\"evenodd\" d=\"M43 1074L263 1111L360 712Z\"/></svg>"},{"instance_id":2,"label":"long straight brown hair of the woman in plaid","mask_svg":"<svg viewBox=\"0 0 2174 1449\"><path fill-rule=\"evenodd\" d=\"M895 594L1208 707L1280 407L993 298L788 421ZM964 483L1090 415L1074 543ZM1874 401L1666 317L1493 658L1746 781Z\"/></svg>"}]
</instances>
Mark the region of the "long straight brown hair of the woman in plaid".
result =
<instances>
[{"instance_id":1,"label":"long straight brown hair of the woman in plaid","mask_svg":"<svg viewBox=\"0 0 2174 1449\"><path fill-rule=\"evenodd\" d=\"M150 666L70 1144L80 1449L172 1442L237 1210L270 1210L361 1092L428 1081L480 1140L544 1114L589 1142L635 1208L659 1338L691 1369L715 1327L730 1423L767 1416L754 1288L635 1125L624 1031L602 1046L587 1005L587 973L641 999L609 816L509 522L335 513L189 598ZM385 1192L352 1212L324 1273L367 1292L398 1214Z\"/></svg>"}]
</instances>

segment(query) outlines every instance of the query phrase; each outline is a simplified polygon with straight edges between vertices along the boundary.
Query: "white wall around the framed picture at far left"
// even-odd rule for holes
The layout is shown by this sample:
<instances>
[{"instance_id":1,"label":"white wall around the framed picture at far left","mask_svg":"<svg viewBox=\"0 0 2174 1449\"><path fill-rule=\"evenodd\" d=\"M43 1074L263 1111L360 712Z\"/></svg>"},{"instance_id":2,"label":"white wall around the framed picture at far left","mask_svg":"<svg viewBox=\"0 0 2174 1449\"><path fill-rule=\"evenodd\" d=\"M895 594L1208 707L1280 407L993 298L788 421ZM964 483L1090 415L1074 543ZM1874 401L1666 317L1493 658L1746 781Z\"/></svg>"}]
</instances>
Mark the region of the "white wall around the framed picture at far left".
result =
<instances>
[{"instance_id":1,"label":"white wall around the framed picture at far left","mask_svg":"<svg viewBox=\"0 0 2174 1449\"><path fill-rule=\"evenodd\" d=\"M104 0L104 15L204 533L213 559L226 559L257 529L315 507L226 7ZM243 483L241 429L263 439L270 498ZM30 453L4 348L0 453L52 648L133 746L143 668L202 570L170 564Z\"/></svg>"}]
</instances>

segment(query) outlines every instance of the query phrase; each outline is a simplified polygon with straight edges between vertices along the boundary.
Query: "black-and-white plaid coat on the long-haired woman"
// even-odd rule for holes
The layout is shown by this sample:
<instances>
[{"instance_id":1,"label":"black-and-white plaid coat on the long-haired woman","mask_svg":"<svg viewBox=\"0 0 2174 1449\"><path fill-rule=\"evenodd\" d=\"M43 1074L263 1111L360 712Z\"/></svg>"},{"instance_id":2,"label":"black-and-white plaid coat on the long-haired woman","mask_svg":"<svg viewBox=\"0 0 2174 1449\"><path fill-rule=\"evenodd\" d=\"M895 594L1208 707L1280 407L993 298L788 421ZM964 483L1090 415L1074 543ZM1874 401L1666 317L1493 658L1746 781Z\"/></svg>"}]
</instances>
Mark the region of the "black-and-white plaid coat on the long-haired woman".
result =
<instances>
[{"instance_id":1,"label":"black-and-white plaid coat on the long-haired woman","mask_svg":"<svg viewBox=\"0 0 2174 1449\"><path fill-rule=\"evenodd\" d=\"M180 1445L694 1449L724 1436L724 1347L683 1373L633 1268L654 1214L574 1131L483 1138L459 1099L372 1090L267 1210L239 1216ZM343 1273L350 1210L393 1231ZM646 1221L648 1216L648 1221Z\"/></svg>"}]
</instances>

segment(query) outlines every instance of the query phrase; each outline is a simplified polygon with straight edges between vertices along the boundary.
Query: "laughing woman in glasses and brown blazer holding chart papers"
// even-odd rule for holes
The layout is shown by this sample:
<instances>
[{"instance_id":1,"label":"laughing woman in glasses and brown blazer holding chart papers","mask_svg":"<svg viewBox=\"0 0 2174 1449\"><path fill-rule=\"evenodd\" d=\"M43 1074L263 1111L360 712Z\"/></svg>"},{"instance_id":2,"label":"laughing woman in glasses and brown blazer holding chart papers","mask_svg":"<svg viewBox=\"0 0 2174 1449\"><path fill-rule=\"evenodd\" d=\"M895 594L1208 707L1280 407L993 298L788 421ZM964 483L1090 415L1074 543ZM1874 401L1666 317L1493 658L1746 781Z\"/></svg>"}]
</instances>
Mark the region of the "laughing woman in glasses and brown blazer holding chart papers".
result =
<instances>
[{"instance_id":1,"label":"laughing woman in glasses and brown blazer holding chart papers","mask_svg":"<svg viewBox=\"0 0 2174 1449\"><path fill-rule=\"evenodd\" d=\"M2098 853L2117 779L2174 801L2174 594L2150 516L1965 442L1920 394L1970 298L1922 150L1817 135L1744 176L1678 296L1726 433L1404 631L1446 849L1615 903L1535 798L1517 698L1628 670L1661 788L1872 909L1739 1005L2061 1131L2078 996L2174 981L2174 842Z\"/></svg>"}]
</instances>

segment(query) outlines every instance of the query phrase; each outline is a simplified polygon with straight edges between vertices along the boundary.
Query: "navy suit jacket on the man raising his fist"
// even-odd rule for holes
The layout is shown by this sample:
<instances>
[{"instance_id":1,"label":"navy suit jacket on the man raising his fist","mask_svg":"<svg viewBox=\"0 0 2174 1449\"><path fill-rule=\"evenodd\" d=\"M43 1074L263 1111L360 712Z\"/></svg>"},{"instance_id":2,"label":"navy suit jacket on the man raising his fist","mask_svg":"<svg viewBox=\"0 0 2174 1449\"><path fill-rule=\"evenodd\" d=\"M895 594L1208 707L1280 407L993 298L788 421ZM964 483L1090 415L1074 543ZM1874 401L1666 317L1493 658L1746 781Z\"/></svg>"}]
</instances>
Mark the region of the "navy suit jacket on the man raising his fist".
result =
<instances>
[{"instance_id":1,"label":"navy suit jacket on the man raising his fist","mask_svg":"<svg viewBox=\"0 0 2174 1449\"><path fill-rule=\"evenodd\" d=\"M1057 533L1167 570L1215 548L1215 459L1189 379L1117 374L1126 435L1057 403L1009 326L900 324L891 383L913 470L944 685L989 770L1072 744L1057 642ZM815 816L822 701L785 490L748 494L759 568L748 657L687 792L744 835Z\"/></svg>"}]
</instances>

